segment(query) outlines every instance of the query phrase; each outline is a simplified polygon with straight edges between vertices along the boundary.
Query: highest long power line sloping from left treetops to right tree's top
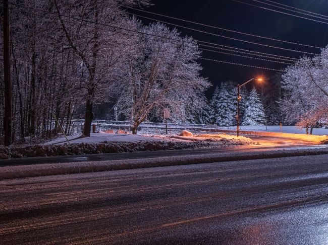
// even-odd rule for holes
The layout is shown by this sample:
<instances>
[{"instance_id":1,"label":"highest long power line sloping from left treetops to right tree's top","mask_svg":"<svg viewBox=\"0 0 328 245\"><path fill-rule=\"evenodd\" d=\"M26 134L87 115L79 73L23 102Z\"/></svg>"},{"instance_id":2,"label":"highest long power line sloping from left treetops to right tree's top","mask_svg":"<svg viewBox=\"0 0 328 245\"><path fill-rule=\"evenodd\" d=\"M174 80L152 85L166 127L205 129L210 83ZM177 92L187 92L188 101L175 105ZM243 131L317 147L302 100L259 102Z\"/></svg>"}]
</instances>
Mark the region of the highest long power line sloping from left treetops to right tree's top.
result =
<instances>
[{"instance_id":1,"label":"highest long power line sloping from left treetops to right tree's top","mask_svg":"<svg viewBox=\"0 0 328 245\"><path fill-rule=\"evenodd\" d=\"M204 26L204 27L210 27L210 28L214 28L214 29L218 29L218 30L223 30L223 31L227 31L227 32L233 32L233 33L243 34L243 35L247 35L247 36L251 36L251 37L263 38L263 39L267 39L267 40L271 40L271 41L278 41L278 42L283 42L283 43L289 43L289 44L295 44L295 45L300 45L300 46L304 46L304 47L319 48L320 49L320 47L316 47L316 46L311 46L311 45L301 44L301 43L295 43L295 42L290 42L290 41L284 41L284 40L275 39L275 38L263 37L263 36L249 34L249 33L245 33L245 32L230 30L230 29L226 29L226 28L222 28L222 27L206 25L206 24L202 24L202 23L198 23L198 22L194 22L194 21L188 21L188 20L184 20L184 19L180 19L180 18L176 18L176 17L172 17L172 16L157 14L157 13L150 12L150 11L135 9L135 8L132 8L132 7L125 7L125 8L132 9L132 10L139 11L139 12L152 14L152 15L157 15L157 16L161 16L161 17L165 17L165 18L170 18L170 19L173 19L173 20L183 21L183 22L187 22L187 23L191 23L191 24L195 24L195 25L200 25L200 26Z\"/></svg>"}]
</instances>

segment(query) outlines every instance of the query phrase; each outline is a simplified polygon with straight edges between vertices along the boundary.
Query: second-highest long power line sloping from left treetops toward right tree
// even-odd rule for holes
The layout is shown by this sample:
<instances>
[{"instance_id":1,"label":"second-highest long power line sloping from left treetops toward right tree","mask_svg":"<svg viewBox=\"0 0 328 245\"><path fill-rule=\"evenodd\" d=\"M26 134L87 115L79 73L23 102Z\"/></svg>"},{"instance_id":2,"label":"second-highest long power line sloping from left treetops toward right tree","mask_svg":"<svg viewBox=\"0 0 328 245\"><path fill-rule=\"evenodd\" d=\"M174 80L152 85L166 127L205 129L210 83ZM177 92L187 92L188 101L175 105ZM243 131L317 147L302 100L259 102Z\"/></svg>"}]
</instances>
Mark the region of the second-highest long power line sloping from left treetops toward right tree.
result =
<instances>
[{"instance_id":1,"label":"second-highest long power line sloping from left treetops toward right tree","mask_svg":"<svg viewBox=\"0 0 328 245\"><path fill-rule=\"evenodd\" d=\"M234 1L234 0L233 0L233 1ZM176 27L184 28L184 29L191 30L191 31L201 32L201 33L205 33L205 34L212 35L212 36L216 36L216 37L222 37L222 38L231 39L231 40L235 40L235 41L239 41L239 42L245 42L245 43L250 43L250 44L260 45L260 46L269 47L269 48L277 48L277 49L286 50L286 51L292 51L292 52L297 52L297 53L304 53L304 54L317 55L317 54L315 54L315 53L304 52L304 51L294 50L294 49L289 49L289 48L281 48L281 47L276 47L276 46L266 45L266 44L262 44L262 43L256 43L256 42L246 41L246 40L242 40L242 39L238 39L238 38L227 37L227 36L224 36L224 35L219 35L219 34L215 34L215 33L211 33L211 32L206 32L206 31L202 31L202 30L198 30L198 29L194 29L194 28L190 28L190 27L185 27L185 26L181 26L181 25L173 24L173 23L170 23L170 22L159 21L159 20L156 20L156 19L153 19L153 18L149 18L149 17L142 16L142 15L137 15L137 14L132 14L132 13L130 13L130 14L131 14L131 15L138 16L138 17L141 17L141 18L145 18L145 19L148 19L148 20L161 22L161 23L164 23L164 24L167 24L167 25L171 25L171 26L176 26Z\"/></svg>"}]
</instances>

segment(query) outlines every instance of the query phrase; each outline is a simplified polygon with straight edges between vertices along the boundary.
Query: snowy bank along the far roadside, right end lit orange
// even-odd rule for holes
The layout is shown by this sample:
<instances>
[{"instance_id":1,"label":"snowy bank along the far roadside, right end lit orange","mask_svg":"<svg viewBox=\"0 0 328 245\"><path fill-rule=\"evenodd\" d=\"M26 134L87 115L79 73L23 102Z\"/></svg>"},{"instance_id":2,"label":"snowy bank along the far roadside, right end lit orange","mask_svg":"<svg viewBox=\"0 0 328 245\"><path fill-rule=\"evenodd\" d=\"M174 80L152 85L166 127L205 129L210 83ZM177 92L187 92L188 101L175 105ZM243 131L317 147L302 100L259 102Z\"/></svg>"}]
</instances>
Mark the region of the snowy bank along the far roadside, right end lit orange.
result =
<instances>
[{"instance_id":1,"label":"snowy bank along the far roadside, right end lit orange","mask_svg":"<svg viewBox=\"0 0 328 245\"><path fill-rule=\"evenodd\" d=\"M174 137L117 135L99 133L92 137L78 137L71 140L71 144L61 140L52 141L52 144L9 146L0 147L0 159L33 157L33 156L57 156L57 155L81 155L98 153L119 153L152 150L174 150L205 147L227 147L236 145L255 144L249 138L235 138L230 135L215 135L210 137Z\"/></svg>"}]
</instances>

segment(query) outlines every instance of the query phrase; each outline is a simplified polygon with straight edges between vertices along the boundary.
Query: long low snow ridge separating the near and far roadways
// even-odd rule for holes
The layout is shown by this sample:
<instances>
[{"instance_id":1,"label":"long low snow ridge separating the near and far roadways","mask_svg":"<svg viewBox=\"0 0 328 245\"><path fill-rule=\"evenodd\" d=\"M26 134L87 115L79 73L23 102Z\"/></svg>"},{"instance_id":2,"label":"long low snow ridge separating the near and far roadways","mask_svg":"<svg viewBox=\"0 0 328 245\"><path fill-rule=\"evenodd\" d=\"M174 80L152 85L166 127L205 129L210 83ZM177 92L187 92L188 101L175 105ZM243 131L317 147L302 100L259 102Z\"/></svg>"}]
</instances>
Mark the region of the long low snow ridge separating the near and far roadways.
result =
<instances>
[{"instance_id":1,"label":"long low snow ridge separating the near and far roadways","mask_svg":"<svg viewBox=\"0 0 328 245\"><path fill-rule=\"evenodd\" d=\"M140 168L166 167L178 165L207 164L212 162L278 158L290 156L328 154L328 149L268 150L261 152L220 152L204 155L179 155L156 158L70 162L64 164L42 164L0 168L1 179L15 179L48 175L66 175L102 171L129 170Z\"/></svg>"}]
</instances>

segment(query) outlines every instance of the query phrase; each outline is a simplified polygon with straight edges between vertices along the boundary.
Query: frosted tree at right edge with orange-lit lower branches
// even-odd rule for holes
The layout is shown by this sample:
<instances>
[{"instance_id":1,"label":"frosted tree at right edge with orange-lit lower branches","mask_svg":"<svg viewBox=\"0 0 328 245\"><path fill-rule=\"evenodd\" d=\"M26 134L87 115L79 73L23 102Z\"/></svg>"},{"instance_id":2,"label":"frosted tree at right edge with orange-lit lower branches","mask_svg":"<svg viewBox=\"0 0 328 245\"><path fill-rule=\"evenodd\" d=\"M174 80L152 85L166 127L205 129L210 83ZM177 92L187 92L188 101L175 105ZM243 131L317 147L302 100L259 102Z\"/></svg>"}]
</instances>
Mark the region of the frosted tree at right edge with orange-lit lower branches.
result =
<instances>
[{"instance_id":1,"label":"frosted tree at right edge with orange-lit lower branches","mask_svg":"<svg viewBox=\"0 0 328 245\"><path fill-rule=\"evenodd\" d=\"M301 57L283 75L285 98L280 107L289 122L306 133L328 115L328 46L313 58Z\"/></svg>"}]
</instances>

